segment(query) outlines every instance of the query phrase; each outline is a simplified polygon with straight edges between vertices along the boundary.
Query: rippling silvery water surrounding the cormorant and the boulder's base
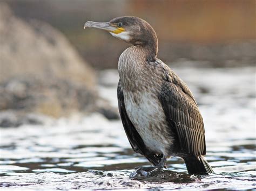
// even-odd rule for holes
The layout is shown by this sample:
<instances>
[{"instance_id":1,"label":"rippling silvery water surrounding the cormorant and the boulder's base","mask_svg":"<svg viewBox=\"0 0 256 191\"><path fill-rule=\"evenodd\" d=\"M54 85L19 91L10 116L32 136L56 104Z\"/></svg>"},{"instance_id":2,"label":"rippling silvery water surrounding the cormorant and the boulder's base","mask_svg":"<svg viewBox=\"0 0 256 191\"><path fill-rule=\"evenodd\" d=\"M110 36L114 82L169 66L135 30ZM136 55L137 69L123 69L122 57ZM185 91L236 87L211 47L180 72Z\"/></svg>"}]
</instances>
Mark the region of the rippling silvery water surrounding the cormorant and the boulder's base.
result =
<instances>
[{"instance_id":1,"label":"rippling silvery water surrounding the cormorant and the boulder's base","mask_svg":"<svg viewBox=\"0 0 256 191\"><path fill-rule=\"evenodd\" d=\"M74 115L1 129L1 190L256 188L254 68L174 70L198 101L214 174L188 175L184 162L171 158L168 171L130 179L149 162L131 150L121 122ZM100 93L116 107L116 71L100 76Z\"/></svg>"}]
</instances>

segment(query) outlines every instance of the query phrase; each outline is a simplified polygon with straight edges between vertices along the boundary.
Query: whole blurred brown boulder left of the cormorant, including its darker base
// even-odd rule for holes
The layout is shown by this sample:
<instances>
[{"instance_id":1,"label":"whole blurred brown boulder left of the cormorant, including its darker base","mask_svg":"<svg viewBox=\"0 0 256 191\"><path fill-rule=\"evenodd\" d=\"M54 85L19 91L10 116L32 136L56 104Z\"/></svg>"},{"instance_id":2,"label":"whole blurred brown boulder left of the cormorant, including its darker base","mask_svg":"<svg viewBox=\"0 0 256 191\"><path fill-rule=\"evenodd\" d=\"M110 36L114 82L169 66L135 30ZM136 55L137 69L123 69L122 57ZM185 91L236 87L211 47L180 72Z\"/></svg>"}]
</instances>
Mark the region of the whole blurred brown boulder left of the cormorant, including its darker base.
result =
<instances>
[{"instance_id":1,"label":"whole blurred brown boulder left of the cormorant, including its darker base","mask_svg":"<svg viewBox=\"0 0 256 191\"><path fill-rule=\"evenodd\" d=\"M95 72L62 33L0 4L0 111L53 117L95 110Z\"/></svg>"}]
</instances>

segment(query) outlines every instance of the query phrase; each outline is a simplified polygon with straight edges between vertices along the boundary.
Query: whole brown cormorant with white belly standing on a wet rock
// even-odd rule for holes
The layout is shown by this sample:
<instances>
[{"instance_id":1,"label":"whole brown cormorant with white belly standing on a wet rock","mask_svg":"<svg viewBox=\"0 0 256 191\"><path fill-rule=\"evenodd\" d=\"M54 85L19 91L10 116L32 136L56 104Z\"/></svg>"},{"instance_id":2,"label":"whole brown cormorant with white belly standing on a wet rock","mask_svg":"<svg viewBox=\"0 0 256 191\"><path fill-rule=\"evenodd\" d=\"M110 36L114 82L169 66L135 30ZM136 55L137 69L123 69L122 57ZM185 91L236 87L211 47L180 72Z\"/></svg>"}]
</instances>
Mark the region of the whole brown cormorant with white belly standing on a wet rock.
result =
<instances>
[{"instance_id":1,"label":"whole brown cormorant with white belly standing on a wet rock","mask_svg":"<svg viewBox=\"0 0 256 191\"><path fill-rule=\"evenodd\" d=\"M103 29L133 45L120 55L117 88L120 116L133 150L144 155L153 170L177 156L184 159L189 174L212 173L203 157L205 131L196 100L178 75L157 59L152 26L125 16L107 23L89 21L85 27Z\"/></svg>"}]
</instances>

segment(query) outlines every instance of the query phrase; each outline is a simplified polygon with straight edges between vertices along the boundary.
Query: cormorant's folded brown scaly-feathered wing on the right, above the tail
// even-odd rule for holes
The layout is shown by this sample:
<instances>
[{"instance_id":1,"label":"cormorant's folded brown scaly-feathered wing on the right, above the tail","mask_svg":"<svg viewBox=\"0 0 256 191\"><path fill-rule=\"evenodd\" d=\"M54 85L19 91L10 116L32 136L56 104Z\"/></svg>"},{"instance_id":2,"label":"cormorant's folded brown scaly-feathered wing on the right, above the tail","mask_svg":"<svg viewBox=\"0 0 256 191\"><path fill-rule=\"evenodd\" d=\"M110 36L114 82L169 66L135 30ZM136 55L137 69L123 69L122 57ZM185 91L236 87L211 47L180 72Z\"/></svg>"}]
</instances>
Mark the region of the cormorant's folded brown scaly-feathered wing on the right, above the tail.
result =
<instances>
[{"instance_id":1,"label":"cormorant's folded brown scaly-feathered wing on the right, above the tail","mask_svg":"<svg viewBox=\"0 0 256 191\"><path fill-rule=\"evenodd\" d=\"M204 122L191 91L172 70L163 65L165 82L159 100L176 143L173 152L192 155L206 153Z\"/></svg>"}]
</instances>

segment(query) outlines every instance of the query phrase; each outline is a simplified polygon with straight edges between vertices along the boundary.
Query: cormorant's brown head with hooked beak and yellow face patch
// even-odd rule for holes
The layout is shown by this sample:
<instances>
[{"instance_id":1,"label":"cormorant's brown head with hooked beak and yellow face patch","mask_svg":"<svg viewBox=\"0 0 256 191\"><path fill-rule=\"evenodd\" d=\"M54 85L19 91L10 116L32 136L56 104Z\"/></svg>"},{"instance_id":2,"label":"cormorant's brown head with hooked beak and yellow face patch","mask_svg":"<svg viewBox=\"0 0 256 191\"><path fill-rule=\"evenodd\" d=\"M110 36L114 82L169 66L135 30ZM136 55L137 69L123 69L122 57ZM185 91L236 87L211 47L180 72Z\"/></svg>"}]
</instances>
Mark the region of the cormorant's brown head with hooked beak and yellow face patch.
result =
<instances>
[{"instance_id":1,"label":"cormorant's brown head with hooked beak and yellow face patch","mask_svg":"<svg viewBox=\"0 0 256 191\"><path fill-rule=\"evenodd\" d=\"M152 26L138 17L118 17L106 23L88 21L85 23L84 29L86 27L108 31L113 37L129 44L158 46L157 35Z\"/></svg>"}]
</instances>

